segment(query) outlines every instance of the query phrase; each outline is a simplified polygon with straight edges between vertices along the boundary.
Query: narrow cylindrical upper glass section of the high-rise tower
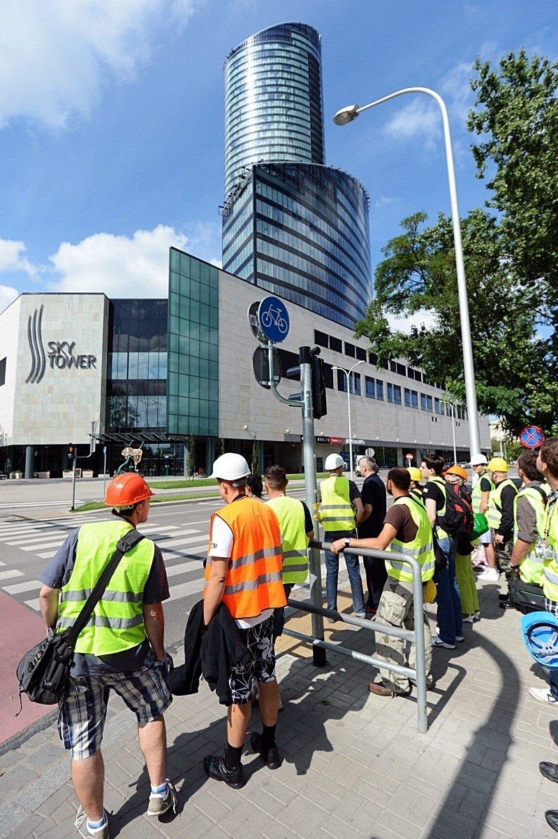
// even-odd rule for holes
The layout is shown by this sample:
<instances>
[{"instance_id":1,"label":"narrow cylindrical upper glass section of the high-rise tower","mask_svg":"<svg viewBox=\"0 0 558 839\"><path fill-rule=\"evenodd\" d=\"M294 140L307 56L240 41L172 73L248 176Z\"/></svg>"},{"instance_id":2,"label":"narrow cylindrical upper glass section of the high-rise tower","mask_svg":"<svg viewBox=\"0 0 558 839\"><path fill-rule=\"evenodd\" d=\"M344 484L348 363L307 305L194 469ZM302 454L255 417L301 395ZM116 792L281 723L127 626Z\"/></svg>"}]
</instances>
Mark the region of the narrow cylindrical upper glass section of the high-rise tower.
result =
<instances>
[{"instance_id":1,"label":"narrow cylindrical upper glass section of the high-rise tower","mask_svg":"<svg viewBox=\"0 0 558 839\"><path fill-rule=\"evenodd\" d=\"M225 60L227 199L262 160L325 162L320 36L304 23L263 29Z\"/></svg>"}]
</instances>

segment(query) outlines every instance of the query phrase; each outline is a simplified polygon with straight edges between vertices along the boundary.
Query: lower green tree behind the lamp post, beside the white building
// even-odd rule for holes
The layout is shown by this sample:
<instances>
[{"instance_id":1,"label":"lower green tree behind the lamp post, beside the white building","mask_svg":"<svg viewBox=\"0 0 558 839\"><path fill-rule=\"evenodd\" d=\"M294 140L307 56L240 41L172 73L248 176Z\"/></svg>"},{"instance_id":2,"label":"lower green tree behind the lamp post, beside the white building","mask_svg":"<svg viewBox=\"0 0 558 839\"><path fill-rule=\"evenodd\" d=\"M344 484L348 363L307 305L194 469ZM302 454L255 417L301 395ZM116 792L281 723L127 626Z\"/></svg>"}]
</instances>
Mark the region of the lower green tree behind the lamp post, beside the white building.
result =
<instances>
[{"instance_id":1,"label":"lower green tree behind the lamp post, beside the white building","mask_svg":"<svg viewBox=\"0 0 558 839\"><path fill-rule=\"evenodd\" d=\"M461 326L452 221L426 214L401 222L403 232L383 248L375 273L375 300L357 336L368 336L380 364L406 358L456 399L465 400ZM498 414L510 432L527 423L549 429L555 421L558 385L549 347L536 332L530 289L514 274L501 227L483 210L462 220L469 316L478 408ZM397 330L394 319L428 313L433 325Z\"/></svg>"}]
</instances>

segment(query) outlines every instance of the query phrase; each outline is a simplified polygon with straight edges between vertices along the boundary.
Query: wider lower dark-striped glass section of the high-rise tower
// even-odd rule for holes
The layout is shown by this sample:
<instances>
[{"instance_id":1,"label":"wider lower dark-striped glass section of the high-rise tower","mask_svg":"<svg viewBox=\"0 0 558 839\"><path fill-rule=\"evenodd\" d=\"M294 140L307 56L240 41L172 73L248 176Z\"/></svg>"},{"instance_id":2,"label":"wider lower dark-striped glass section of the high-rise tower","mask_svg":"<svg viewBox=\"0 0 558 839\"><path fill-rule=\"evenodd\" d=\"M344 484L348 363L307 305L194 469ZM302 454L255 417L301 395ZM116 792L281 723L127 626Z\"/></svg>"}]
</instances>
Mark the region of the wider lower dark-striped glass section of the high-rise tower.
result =
<instances>
[{"instance_id":1,"label":"wider lower dark-striped glass section of the high-rise tower","mask_svg":"<svg viewBox=\"0 0 558 839\"><path fill-rule=\"evenodd\" d=\"M342 326L372 295L369 195L339 169L252 167L223 217L223 268Z\"/></svg>"}]
</instances>

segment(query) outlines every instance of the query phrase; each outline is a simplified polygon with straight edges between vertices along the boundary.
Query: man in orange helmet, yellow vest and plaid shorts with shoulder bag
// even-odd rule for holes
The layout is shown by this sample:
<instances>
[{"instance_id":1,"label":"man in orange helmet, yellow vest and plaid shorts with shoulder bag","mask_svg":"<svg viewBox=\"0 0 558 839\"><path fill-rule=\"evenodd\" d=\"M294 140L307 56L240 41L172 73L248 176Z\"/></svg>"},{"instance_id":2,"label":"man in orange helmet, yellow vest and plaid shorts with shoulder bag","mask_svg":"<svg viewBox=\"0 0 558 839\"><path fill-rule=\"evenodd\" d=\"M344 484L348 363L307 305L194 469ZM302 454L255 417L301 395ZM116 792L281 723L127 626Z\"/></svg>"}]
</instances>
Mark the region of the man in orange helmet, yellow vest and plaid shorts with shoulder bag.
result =
<instances>
[{"instance_id":1,"label":"man in orange helmet, yellow vest and plaid shorts with shoulder bag","mask_svg":"<svg viewBox=\"0 0 558 839\"><path fill-rule=\"evenodd\" d=\"M82 524L65 540L41 575L39 605L47 629L70 628L116 552L116 543L147 521L153 492L135 472L118 475L106 490L111 521ZM169 597L163 556L151 539L123 555L75 645L74 665L59 705L59 732L70 750L80 800L75 826L82 836L109 839L103 804L101 739L110 690L137 716L140 748L151 781L147 816L176 808L165 778L167 737L163 711L170 656L164 646L163 600Z\"/></svg>"}]
</instances>

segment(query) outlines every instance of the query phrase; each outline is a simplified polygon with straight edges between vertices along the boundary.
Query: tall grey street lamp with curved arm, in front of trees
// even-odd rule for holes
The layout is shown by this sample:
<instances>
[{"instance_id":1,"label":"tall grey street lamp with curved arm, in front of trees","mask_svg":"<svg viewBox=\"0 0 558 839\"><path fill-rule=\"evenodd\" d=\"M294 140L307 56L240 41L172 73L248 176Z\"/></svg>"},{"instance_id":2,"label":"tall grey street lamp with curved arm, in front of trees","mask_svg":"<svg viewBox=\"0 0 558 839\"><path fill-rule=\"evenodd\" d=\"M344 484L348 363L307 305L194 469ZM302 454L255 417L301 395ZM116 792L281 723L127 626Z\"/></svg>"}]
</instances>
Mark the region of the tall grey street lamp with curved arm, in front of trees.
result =
<instances>
[{"instance_id":1,"label":"tall grey street lamp with curved arm, in front of trees","mask_svg":"<svg viewBox=\"0 0 558 839\"><path fill-rule=\"evenodd\" d=\"M452 205L453 242L455 246L455 266L457 270L457 295L459 299L459 318L461 321L463 347L463 372L465 374L465 395L467 399L469 419L469 446L471 448L470 454L473 456L475 452L480 451L477 391L475 389L473 345L471 341L471 325L469 322L465 264L463 263L461 222L459 220L459 207L457 206L457 185L455 180L455 168L453 165L452 137L450 134L449 119L447 118L446 103L443 101L442 96L440 96L436 91L432 91L429 87L405 87L403 90L390 93L389 96L382 96L381 99L376 99L375 102L369 102L368 105L363 105L363 107L359 107L358 105L349 105L348 107L344 107L335 114L333 122L335 122L336 125L347 125L348 122L353 122L353 120L359 116L360 112L368 111L369 108L381 105L382 102L388 102L388 100L394 99L395 96L402 96L404 93L426 93L427 96L432 96L432 98L436 100L442 112L444 141L446 144L447 180Z\"/></svg>"}]
</instances>

